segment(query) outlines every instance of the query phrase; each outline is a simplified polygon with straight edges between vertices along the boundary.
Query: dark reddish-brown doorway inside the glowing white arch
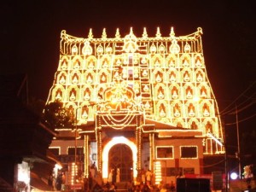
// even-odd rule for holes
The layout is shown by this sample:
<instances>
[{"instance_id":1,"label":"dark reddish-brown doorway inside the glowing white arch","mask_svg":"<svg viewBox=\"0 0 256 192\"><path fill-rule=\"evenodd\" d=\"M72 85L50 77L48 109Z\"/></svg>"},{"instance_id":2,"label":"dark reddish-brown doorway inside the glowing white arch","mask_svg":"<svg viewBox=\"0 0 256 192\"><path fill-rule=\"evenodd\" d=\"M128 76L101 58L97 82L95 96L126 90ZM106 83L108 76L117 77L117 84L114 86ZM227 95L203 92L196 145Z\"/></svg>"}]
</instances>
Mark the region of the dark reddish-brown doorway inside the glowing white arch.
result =
<instances>
[{"instance_id":1,"label":"dark reddish-brown doorway inside the glowing white arch","mask_svg":"<svg viewBox=\"0 0 256 192\"><path fill-rule=\"evenodd\" d=\"M119 168L120 182L131 181L133 160L131 148L126 144L114 145L108 153L108 170Z\"/></svg>"}]
</instances>

